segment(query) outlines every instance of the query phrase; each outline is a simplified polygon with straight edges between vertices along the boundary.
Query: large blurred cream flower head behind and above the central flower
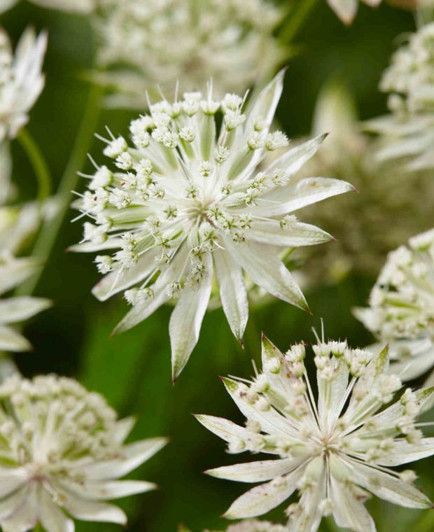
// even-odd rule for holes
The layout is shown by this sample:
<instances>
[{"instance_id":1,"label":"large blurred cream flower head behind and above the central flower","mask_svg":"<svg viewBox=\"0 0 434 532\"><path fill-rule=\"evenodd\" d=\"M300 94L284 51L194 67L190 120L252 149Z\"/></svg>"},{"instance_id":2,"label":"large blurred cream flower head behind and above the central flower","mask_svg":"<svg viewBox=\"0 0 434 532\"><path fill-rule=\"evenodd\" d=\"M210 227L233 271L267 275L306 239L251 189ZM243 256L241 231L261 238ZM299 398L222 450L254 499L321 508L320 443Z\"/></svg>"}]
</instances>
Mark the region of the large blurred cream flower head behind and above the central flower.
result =
<instances>
[{"instance_id":1,"label":"large blurred cream flower head behind and above the central flower","mask_svg":"<svg viewBox=\"0 0 434 532\"><path fill-rule=\"evenodd\" d=\"M181 93L212 78L214 92L244 92L286 57L273 36L283 17L272 0L130 0L102 11L95 78L110 106L146 109L148 87Z\"/></svg>"}]
</instances>

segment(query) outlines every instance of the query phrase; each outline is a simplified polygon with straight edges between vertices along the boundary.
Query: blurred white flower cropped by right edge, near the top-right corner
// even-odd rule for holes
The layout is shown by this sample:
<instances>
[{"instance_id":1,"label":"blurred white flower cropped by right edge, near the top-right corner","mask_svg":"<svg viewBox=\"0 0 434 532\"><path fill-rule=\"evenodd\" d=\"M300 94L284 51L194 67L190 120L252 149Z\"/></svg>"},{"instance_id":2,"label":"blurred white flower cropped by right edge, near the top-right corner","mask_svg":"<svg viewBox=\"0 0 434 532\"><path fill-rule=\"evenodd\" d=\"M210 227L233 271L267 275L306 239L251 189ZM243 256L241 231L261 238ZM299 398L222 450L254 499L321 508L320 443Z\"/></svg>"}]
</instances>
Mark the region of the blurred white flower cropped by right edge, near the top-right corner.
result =
<instances>
[{"instance_id":1,"label":"blurred white flower cropped by right edge, near the top-right corner","mask_svg":"<svg viewBox=\"0 0 434 532\"><path fill-rule=\"evenodd\" d=\"M412 170L434 168L434 22L409 36L381 80L391 114L370 120L385 136L381 160L407 158Z\"/></svg>"}]
</instances>

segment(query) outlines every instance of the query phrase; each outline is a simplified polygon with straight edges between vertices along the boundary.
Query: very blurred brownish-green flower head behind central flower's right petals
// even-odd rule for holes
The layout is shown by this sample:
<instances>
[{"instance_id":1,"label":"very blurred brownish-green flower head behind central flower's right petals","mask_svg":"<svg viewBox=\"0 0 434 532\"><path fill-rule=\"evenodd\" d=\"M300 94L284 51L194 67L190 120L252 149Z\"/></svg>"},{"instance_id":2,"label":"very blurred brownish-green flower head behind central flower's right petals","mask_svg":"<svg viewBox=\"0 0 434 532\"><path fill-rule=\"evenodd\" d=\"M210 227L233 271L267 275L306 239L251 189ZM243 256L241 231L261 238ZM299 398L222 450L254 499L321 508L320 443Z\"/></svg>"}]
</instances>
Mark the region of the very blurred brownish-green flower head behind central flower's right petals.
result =
<instances>
[{"instance_id":1,"label":"very blurred brownish-green flower head behind central flower's right petals","mask_svg":"<svg viewBox=\"0 0 434 532\"><path fill-rule=\"evenodd\" d=\"M297 178L348 179L360 194L323 202L300 215L337 238L321 250L304 249L304 281L336 282L354 271L377 275L388 251L427 223L434 225L433 176L409 174L398 161L380 162L377 139L360 133L353 99L337 80L326 83L318 97L312 133L318 131L330 132L327 142ZM391 223L396 219L399 224Z\"/></svg>"}]
</instances>

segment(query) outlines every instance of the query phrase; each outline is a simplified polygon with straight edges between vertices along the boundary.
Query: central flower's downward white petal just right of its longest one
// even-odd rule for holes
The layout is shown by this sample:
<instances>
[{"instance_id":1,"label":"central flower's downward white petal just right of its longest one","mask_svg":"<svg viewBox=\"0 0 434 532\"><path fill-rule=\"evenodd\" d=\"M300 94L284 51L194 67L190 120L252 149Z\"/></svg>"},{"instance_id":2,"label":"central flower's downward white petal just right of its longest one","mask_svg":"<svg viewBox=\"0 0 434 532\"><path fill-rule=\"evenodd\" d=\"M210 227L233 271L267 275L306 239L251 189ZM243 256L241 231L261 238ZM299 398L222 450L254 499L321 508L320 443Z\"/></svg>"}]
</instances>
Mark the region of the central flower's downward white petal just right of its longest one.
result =
<instances>
[{"instance_id":1,"label":"central flower's downward white petal just right of its longest one","mask_svg":"<svg viewBox=\"0 0 434 532\"><path fill-rule=\"evenodd\" d=\"M241 268L223 249L213 253L220 298L234 336L241 340L248 319L246 286Z\"/></svg>"}]
</instances>

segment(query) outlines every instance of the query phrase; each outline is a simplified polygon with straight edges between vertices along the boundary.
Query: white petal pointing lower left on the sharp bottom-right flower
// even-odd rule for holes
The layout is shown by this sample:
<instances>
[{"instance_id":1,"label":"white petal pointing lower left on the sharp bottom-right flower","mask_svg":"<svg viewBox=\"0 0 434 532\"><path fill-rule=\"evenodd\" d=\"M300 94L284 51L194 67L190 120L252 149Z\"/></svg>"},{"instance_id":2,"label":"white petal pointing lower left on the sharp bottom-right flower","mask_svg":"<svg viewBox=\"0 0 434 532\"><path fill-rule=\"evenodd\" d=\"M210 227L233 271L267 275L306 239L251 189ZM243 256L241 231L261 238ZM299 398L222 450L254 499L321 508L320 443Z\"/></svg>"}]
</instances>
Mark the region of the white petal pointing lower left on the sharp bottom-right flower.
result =
<instances>
[{"instance_id":1,"label":"white petal pointing lower left on the sharp bottom-right flower","mask_svg":"<svg viewBox=\"0 0 434 532\"><path fill-rule=\"evenodd\" d=\"M272 510L283 503L297 489L297 483L304 473L304 468L297 468L295 471L277 477L272 482L260 484L253 489L246 491L237 498L223 517L227 519L244 519L256 517Z\"/></svg>"}]
</instances>

